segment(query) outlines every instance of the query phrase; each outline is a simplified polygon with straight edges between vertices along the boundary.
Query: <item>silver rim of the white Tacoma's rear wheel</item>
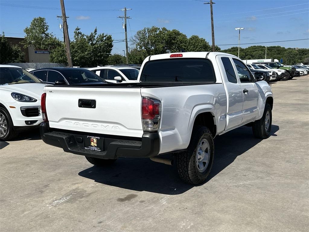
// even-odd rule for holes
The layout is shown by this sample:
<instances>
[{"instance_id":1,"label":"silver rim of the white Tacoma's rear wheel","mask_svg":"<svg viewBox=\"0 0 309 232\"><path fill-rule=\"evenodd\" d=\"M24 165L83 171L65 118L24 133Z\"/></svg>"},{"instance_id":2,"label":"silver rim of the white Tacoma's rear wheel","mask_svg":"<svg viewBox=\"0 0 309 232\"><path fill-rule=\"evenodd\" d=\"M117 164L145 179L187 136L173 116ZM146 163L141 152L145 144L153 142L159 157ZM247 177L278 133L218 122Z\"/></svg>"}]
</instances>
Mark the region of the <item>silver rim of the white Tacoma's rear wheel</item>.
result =
<instances>
[{"instance_id":1,"label":"silver rim of the white Tacoma's rear wheel","mask_svg":"<svg viewBox=\"0 0 309 232\"><path fill-rule=\"evenodd\" d=\"M210 145L207 139L203 138L196 149L196 166L199 172L205 172L210 158Z\"/></svg>"}]
</instances>

